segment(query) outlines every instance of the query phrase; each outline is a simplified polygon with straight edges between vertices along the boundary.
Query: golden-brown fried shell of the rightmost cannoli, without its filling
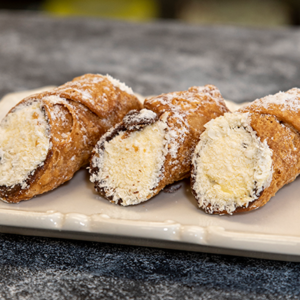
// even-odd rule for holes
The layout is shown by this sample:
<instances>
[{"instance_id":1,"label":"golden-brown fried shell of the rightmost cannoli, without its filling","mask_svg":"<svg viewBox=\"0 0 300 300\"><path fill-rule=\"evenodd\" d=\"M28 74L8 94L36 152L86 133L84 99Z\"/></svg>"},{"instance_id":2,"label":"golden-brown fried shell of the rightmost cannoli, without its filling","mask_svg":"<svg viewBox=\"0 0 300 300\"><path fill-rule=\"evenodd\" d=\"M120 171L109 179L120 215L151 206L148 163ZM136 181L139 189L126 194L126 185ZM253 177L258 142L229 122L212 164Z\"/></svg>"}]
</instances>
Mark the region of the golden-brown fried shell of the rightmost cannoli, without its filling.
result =
<instances>
[{"instance_id":1,"label":"golden-brown fried shell of the rightmost cannoli, without its filling","mask_svg":"<svg viewBox=\"0 0 300 300\"><path fill-rule=\"evenodd\" d=\"M197 164L193 163L192 190L200 208L207 213L235 214L258 209L264 206L285 184L294 181L300 173L300 89L294 88L285 93L280 92L257 99L236 113L248 114L249 126L259 143L270 149L270 176L259 187L259 191L256 188L253 190L252 200L242 205L236 204L233 209L220 209L207 204L205 196L201 200L200 194L195 191ZM194 158L201 154L201 152L195 152ZM238 157L236 159L238 160Z\"/></svg>"}]
</instances>

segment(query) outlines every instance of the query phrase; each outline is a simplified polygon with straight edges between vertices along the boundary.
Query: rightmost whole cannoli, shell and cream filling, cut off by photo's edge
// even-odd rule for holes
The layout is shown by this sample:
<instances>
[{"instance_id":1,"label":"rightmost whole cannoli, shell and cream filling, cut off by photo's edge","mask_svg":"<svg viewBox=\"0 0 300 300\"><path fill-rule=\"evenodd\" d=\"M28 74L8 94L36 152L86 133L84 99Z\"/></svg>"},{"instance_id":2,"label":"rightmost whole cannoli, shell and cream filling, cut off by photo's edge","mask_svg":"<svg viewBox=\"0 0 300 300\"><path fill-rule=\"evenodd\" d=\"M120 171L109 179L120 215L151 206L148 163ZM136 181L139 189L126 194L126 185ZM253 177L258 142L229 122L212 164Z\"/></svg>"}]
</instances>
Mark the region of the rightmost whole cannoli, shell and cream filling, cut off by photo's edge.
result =
<instances>
[{"instance_id":1,"label":"rightmost whole cannoli, shell and cream filling, cut off by photo's edge","mask_svg":"<svg viewBox=\"0 0 300 300\"><path fill-rule=\"evenodd\" d=\"M300 89L258 99L205 127L191 181L207 213L262 207L300 172Z\"/></svg>"}]
</instances>

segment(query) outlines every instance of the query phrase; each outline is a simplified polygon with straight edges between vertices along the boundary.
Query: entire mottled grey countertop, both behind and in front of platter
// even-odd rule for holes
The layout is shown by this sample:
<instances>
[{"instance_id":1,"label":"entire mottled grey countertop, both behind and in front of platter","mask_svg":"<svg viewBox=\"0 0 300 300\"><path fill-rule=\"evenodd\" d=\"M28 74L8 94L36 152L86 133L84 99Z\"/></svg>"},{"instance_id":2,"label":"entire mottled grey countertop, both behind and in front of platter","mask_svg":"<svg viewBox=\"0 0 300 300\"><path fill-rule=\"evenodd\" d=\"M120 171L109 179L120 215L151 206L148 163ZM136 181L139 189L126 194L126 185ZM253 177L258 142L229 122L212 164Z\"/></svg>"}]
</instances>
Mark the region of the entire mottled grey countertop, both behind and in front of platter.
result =
<instances>
[{"instance_id":1,"label":"entire mottled grey countertop, both behind and in front of platter","mask_svg":"<svg viewBox=\"0 0 300 300\"><path fill-rule=\"evenodd\" d=\"M0 97L109 73L144 95L215 84L237 102L300 86L300 29L0 13ZM299 299L300 264L0 234L1 299Z\"/></svg>"}]
</instances>

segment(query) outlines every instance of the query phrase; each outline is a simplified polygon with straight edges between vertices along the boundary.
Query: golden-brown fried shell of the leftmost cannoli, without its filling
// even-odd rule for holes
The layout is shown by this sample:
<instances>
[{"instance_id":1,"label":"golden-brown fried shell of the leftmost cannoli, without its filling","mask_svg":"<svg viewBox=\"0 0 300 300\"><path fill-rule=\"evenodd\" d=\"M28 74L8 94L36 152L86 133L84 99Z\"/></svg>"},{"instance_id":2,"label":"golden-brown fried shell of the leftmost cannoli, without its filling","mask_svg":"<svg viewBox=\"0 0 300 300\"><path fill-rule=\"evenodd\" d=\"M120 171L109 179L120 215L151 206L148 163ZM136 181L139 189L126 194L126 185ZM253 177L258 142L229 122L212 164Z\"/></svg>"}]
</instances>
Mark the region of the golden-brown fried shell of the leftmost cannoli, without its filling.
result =
<instances>
[{"instance_id":1,"label":"golden-brown fried shell of the leftmost cannoli, without its filling","mask_svg":"<svg viewBox=\"0 0 300 300\"><path fill-rule=\"evenodd\" d=\"M11 109L9 114L21 105L40 102L50 146L45 160L24 182L0 186L2 201L28 200L70 180L88 164L99 138L130 110L141 109L132 93L110 79L93 74L77 77L52 91L29 96Z\"/></svg>"}]
</instances>

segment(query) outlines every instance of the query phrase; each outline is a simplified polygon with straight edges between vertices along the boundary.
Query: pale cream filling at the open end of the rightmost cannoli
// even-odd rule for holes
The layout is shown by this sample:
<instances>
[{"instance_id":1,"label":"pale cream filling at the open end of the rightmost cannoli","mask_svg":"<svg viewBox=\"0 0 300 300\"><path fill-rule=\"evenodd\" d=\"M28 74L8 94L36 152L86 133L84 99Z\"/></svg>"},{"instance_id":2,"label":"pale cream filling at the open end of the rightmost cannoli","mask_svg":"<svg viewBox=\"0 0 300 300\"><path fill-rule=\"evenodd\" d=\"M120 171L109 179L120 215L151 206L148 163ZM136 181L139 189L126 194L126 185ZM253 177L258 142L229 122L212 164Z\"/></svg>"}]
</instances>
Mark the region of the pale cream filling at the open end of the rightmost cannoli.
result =
<instances>
[{"instance_id":1,"label":"pale cream filling at the open end of the rightmost cannoli","mask_svg":"<svg viewBox=\"0 0 300 300\"><path fill-rule=\"evenodd\" d=\"M250 121L249 113L226 113L205 125L193 156L193 189L210 213L247 207L271 183L272 150Z\"/></svg>"}]
</instances>

